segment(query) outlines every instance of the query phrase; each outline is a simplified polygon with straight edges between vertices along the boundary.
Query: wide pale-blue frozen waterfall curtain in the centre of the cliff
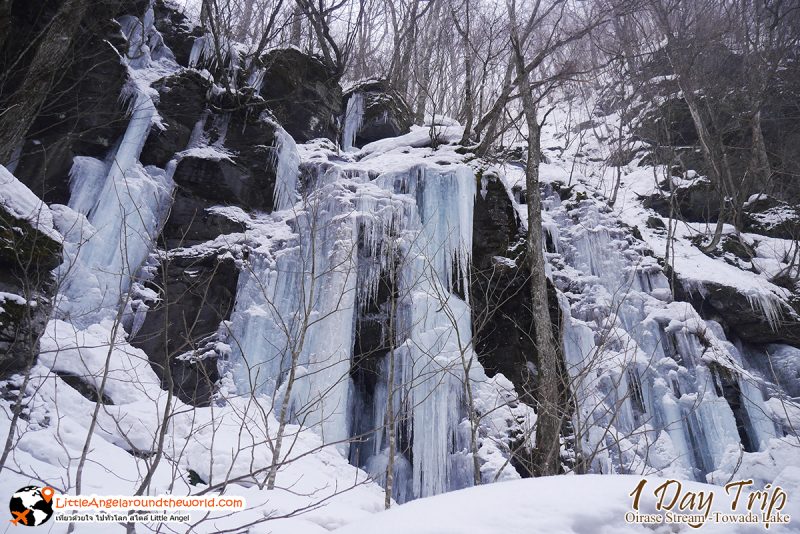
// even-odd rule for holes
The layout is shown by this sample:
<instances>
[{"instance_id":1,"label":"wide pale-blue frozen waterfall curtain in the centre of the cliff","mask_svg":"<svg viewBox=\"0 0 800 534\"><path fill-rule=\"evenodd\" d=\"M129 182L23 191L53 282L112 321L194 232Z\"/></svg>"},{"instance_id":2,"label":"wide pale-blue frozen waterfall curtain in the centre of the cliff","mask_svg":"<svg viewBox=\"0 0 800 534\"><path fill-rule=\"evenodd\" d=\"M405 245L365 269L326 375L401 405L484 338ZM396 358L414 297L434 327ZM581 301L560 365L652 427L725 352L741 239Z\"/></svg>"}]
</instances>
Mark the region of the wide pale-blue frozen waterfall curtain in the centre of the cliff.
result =
<instances>
[{"instance_id":1,"label":"wide pale-blue frozen waterfall curtain in the centre of the cliff","mask_svg":"<svg viewBox=\"0 0 800 534\"><path fill-rule=\"evenodd\" d=\"M388 424L402 442L395 498L470 485L465 364L482 369L472 361L469 306L454 292L466 287L471 254L472 170L418 164L374 179L328 163L304 170L307 191L284 214L294 234L255 248L240 278L231 321L237 392L270 395L277 412L292 381L291 422L316 428L343 454L354 410L368 413L370 447L360 447L358 463L382 480L390 351L378 356L370 399L353 391L350 368L359 308L391 272L396 417Z\"/></svg>"}]
</instances>

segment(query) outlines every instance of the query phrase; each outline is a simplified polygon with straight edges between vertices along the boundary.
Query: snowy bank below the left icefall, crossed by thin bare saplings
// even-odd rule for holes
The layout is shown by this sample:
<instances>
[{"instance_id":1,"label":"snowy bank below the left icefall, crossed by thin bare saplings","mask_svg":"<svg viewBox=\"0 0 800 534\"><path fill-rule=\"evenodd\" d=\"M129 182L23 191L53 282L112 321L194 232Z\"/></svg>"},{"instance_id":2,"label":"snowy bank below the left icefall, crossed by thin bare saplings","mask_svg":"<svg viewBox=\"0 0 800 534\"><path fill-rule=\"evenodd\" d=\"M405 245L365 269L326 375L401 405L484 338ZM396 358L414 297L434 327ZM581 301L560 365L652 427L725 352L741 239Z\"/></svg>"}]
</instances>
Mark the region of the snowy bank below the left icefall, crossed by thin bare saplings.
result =
<instances>
[{"instance_id":1,"label":"snowy bank below the left icefall, crossed by thin bare saplings","mask_svg":"<svg viewBox=\"0 0 800 534\"><path fill-rule=\"evenodd\" d=\"M52 328L52 338L72 345L58 361L47 362L63 373L81 373L105 361L111 348L109 390L115 404L98 412L94 439L83 472L83 494L133 495L141 476L150 468L151 451L157 448L162 415L169 413L164 450L167 459L155 466L147 488L150 495L224 494L244 497L247 508L231 515L212 512L194 514L197 532L219 532L233 528L251 532L327 532L364 518L383 507L382 490L366 473L349 465L335 450L323 448L311 430L287 429L292 446L287 448L278 484L264 491L264 468L270 465L269 440L274 439L277 422L265 411L269 398L231 399L224 406L196 408L173 399L150 384L152 371L139 365L146 356L124 341L108 343L107 325L78 332L63 323ZM78 347L86 343L88 347ZM93 345L95 344L96 345ZM73 351L73 352L71 352ZM82 361L74 361L78 357ZM70 357L73 361L66 361ZM128 362L132 367L124 368ZM132 378L142 375L141 381ZM126 377L123 379L123 377ZM12 382L11 387L19 387ZM16 441L9 456L0 491L12 494L29 485L27 475L35 472L59 492L74 494L74 476L86 442L95 403L67 385L50 368L37 365L31 370L27 387L25 417L16 429ZM119 404L117 404L119 402ZM11 409L10 401L0 401ZM266 417L266 420L264 419ZM269 434L264 429L269 429ZM9 431L9 419L0 422L0 432ZM194 473L192 475L191 473ZM193 479L197 477L197 479ZM228 481L226 488L219 484ZM66 532L66 523L55 524L52 532ZM77 530L81 532L79 528ZM93 531L91 528L86 532ZM147 531L144 525L137 532Z\"/></svg>"}]
</instances>

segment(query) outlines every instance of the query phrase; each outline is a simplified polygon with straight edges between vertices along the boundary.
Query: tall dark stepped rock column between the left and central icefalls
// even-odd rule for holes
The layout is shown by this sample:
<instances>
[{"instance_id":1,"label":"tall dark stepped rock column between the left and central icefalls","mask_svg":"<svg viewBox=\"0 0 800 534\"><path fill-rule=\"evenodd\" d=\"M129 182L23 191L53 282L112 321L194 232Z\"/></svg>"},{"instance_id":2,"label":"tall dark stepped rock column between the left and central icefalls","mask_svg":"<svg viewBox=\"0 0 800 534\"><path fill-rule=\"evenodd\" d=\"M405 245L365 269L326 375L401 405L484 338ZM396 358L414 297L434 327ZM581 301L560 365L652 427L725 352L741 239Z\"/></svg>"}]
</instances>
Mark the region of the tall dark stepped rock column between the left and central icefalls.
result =
<instances>
[{"instance_id":1,"label":"tall dark stepped rock column between the left and central icefalls","mask_svg":"<svg viewBox=\"0 0 800 534\"><path fill-rule=\"evenodd\" d=\"M159 238L164 250L148 284L151 309L132 343L148 354L164 387L171 381L181 399L203 405L219 379L220 328L238 281L233 256L212 241L245 231L246 210L273 209L285 134L262 98L214 94L197 72L184 70L154 86L164 129L150 133L142 161L175 165L175 190Z\"/></svg>"}]
</instances>

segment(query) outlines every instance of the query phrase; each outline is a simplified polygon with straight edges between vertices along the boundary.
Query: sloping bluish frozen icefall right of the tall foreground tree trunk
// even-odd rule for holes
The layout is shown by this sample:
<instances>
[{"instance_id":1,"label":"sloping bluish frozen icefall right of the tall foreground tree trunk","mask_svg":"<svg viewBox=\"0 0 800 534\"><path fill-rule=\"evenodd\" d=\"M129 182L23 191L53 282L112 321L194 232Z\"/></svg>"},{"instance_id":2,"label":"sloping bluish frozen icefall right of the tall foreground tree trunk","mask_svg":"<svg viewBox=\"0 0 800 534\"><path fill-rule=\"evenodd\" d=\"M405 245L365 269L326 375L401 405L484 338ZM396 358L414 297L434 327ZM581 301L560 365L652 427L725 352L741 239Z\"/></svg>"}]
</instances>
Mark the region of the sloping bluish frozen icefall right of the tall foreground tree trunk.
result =
<instances>
[{"instance_id":1,"label":"sloping bluish frozen icefall right of the tall foreground tree trunk","mask_svg":"<svg viewBox=\"0 0 800 534\"><path fill-rule=\"evenodd\" d=\"M705 480L740 448L783 436L765 415L763 380L719 324L672 301L655 259L607 209L552 192L545 206L584 469Z\"/></svg>"}]
</instances>

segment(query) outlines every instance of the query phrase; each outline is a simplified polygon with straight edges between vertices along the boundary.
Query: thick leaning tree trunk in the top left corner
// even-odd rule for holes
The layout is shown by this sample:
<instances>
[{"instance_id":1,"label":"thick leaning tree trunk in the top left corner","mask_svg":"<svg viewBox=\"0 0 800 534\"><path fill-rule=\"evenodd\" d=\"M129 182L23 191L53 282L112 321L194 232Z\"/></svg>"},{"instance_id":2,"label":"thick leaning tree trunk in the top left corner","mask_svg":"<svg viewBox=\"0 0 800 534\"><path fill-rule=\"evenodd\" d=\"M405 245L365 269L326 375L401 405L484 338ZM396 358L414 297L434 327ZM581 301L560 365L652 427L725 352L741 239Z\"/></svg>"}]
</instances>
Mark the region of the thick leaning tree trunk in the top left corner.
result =
<instances>
[{"instance_id":1,"label":"thick leaning tree trunk in the top left corner","mask_svg":"<svg viewBox=\"0 0 800 534\"><path fill-rule=\"evenodd\" d=\"M64 69L88 7L88 0L66 0L55 14L25 79L7 102L5 113L0 114L0 163L8 163L24 141L52 89L54 75Z\"/></svg>"}]
</instances>

